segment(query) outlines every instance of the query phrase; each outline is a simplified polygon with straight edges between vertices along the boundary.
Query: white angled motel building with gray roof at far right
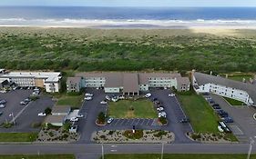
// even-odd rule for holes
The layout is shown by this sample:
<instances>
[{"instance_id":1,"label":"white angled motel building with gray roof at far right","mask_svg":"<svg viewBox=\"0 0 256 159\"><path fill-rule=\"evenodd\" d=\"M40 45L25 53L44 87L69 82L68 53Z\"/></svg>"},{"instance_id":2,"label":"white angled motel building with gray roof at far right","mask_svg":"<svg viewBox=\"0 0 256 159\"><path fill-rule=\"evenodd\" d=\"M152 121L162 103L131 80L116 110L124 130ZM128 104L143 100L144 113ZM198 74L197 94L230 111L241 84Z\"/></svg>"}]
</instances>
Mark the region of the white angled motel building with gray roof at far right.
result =
<instances>
[{"instance_id":1,"label":"white angled motel building with gray roof at far right","mask_svg":"<svg viewBox=\"0 0 256 159\"><path fill-rule=\"evenodd\" d=\"M212 93L255 106L256 84L192 71L192 85L197 93Z\"/></svg>"}]
</instances>

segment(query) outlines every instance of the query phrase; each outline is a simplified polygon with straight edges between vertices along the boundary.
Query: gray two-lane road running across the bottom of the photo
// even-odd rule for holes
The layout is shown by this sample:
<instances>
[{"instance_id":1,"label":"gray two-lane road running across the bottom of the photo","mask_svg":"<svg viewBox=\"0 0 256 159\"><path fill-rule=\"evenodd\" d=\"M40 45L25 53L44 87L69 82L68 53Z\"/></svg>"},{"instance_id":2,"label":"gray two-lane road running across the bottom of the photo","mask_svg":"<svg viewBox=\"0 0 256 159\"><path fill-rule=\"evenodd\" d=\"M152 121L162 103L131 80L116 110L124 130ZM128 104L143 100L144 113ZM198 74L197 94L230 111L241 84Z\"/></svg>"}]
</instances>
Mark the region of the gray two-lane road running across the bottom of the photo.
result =
<instances>
[{"instance_id":1,"label":"gray two-lane road running across the bottom of the photo","mask_svg":"<svg viewBox=\"0 0 256 159\"><path fill-rule=\"evenodd\" d=\"M158 154L161 144L103 144L106 154ZM246 154L249 144L165 144L165 154ZM15 150L15 151L14 151ZM256 153L256 148L252 149ZM100 154L101 144L0 144L0 154Z\"/></svg>"}]
</instances>

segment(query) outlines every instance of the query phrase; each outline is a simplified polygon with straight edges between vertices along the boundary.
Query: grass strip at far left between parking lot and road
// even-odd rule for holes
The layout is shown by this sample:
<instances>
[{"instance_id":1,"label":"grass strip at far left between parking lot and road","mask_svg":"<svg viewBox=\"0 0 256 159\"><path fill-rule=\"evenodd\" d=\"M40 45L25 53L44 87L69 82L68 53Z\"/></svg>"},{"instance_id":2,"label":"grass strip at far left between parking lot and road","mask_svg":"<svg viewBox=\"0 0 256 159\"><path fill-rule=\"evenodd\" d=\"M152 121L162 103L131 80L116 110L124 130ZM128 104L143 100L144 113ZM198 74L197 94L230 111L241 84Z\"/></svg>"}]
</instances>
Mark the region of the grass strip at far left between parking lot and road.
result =
<instances>
[{"instance_id":1,"label":"grass strip at far left between parking lot and road","mask_svg":"<svg viewBox=\"0 0 256 159\"><path fill-rule=\"evenodd\" d=\"M0 142L34 142L37 133L0 133Z\"/></svg>"}]
</instances>

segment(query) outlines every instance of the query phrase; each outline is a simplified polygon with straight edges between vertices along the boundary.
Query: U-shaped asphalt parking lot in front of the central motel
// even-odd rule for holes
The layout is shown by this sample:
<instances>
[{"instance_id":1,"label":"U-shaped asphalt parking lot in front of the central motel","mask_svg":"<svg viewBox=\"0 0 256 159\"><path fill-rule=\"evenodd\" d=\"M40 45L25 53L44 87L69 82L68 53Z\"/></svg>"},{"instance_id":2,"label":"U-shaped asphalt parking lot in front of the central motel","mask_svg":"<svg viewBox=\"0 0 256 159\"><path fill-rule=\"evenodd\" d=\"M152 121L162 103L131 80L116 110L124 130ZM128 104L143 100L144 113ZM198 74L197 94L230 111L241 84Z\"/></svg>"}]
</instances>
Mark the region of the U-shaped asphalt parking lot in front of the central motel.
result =
<instances>
[{"instance_id":1,"label":"U-shaped asphalt parking lot in front of the central motel","mask_svg":"<svg viewBox=\"0 0 256 159\"><path fill-rule=\"evenodd\" d=\"M183 119L185 114L183 113L177 98L169 97L169 90L152 89L150 93L152 96L148 100L158 98L164 105L165 112L167 113L168 125L161 126L158 123L158 119L124 119L116 118L110 124L105 126L97 126L95 124L97 120L97 114L99 112L107 111L107 104L100 104L105 99L107 94L103 90L87 89L87 93L94 94L93 99L85 101L80 109L80 114L84 114L86 117L78 121L79 132L81 133L80 143L90 143L90 136L94 131L98 130L121 130L132 129L135 125L136 129L152 129L152 130L168 130L176 134L175 143L191 143L187 137L187 132L192 132L191 125L189 123L179 123ZM108 94L109 95L109 94Z\"/></svg>"}]
</instances>

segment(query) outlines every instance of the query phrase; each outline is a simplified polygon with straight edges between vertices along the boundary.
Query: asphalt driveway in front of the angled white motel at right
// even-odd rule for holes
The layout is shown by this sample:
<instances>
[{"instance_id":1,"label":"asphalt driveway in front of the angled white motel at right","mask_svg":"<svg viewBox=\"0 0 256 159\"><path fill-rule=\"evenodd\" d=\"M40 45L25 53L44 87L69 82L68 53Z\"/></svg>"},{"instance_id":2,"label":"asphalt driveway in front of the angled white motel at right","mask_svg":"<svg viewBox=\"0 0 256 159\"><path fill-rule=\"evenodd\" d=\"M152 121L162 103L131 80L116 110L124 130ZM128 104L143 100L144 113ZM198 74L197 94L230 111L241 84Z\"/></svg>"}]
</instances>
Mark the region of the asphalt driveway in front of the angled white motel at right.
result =
<instances>
[{"instance_id":1,"label":"asphalt driveway in front of the angled white motel at right","mask_svg":"<svg viewBox=\"0 0 256 159\"><path fill-rule=\"evenodd\" d=\"M228 112L234 120L234 124L229 124L230 129L238 137L241 142L248 142L250 137L256 136L256 121L253 119L253 114L256 109L252 106L234 107L228 104L221 96L211 94L212 99L220 104L221 108Z\"/></svg>"}]
</instances>

